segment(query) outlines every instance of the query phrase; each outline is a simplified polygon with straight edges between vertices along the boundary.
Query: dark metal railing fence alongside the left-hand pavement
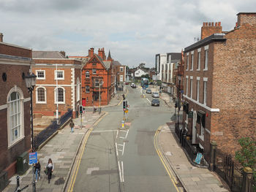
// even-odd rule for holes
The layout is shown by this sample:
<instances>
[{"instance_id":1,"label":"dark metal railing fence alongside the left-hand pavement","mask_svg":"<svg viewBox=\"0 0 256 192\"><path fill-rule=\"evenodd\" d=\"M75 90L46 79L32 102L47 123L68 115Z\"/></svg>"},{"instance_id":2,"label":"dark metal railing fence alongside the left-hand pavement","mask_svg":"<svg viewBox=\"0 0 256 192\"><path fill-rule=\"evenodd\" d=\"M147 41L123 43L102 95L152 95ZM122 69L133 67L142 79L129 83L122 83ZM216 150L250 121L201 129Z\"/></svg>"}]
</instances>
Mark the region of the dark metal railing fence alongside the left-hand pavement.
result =
<instances>
[{"instance_id":1,"label":"dark metal railing fence alongside the left-hand pavement","mask_svg":"<svg viewBox=\"0 0 256 192\"><path fill-rule=\"evenodd\" d=\"M72 117L72 110L68 110L64 115L61 116L59 120L59 125L57 124L56 120L42 130L36 137L34 137L34 147L35 150L38 150L39 146L42 145L51 135L53 135L56 131L58 131L59 127L62 126L64 123Z\"/></svg>"}]
</instances>

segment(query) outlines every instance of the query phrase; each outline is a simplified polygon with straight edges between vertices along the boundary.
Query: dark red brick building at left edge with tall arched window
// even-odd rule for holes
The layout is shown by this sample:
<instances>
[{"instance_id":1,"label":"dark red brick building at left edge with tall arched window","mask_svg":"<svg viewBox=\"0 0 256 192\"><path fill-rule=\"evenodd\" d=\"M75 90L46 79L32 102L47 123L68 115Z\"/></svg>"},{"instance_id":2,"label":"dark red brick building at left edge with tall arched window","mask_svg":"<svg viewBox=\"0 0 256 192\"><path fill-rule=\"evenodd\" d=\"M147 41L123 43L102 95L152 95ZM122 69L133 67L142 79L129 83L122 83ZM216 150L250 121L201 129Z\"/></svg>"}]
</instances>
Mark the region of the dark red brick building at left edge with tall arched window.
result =
<instances>
[{"instance_id":1,"label":"dark red brick building at left edge with tall arched window","mask_svg":"<svg viewBox=\"0 0 256 192\"><path fill-rule=\"evenodd\" d=\"M31 149L30 94L23 78L31 63L31 49L7 44L0 34L1 180L15 174L17 157Z\"/></svg>"}]
</instances>

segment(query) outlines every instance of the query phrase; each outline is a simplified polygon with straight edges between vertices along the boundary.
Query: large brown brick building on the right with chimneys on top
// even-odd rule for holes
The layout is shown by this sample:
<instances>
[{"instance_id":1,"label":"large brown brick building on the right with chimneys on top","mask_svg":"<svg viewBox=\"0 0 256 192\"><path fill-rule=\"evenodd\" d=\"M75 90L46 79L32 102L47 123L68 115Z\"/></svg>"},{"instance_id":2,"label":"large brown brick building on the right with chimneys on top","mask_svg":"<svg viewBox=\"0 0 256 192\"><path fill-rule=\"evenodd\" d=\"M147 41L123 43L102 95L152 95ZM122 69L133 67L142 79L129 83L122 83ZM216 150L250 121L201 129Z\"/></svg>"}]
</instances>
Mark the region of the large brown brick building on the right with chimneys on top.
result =
<instances>
[{"instance_id":1,"label":"large brown brick building on the right with chimneys on top","mask_svg":"<svg viewBox=\"0 0 256 192\"><path fill-rule=\"evenodd\" d=\"M240 12L232 31L203 23L202 39L184 50L184 129L205 154L211 141L233 155L238 139L256 139L255 31L256 13Z\"/></svg>"}]
</instances>

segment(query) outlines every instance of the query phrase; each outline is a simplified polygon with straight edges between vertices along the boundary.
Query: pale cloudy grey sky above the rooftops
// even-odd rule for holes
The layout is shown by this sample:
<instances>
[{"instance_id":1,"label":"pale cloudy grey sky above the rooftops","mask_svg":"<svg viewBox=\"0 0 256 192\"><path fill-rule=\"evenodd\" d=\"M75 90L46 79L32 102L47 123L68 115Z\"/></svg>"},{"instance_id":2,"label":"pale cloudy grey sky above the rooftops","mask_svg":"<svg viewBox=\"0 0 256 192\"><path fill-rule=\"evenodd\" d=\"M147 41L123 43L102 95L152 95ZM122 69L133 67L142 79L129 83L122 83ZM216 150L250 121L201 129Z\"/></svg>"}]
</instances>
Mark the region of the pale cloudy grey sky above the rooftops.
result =
<instances>
[{"instance_id":1,"label":"pale cloudy grey sky above the rooftops","mask_svg":"<svg viewBox=\"0 0 256 192\"><path fill-rule=\"evenodd\" d=\"M200 38L203 22L236 26L255 0L0 0L4 42L32 50L88 55L104 47L129 67L154 67L158 53L180 53Z\"/></svg>"}]
</instances>

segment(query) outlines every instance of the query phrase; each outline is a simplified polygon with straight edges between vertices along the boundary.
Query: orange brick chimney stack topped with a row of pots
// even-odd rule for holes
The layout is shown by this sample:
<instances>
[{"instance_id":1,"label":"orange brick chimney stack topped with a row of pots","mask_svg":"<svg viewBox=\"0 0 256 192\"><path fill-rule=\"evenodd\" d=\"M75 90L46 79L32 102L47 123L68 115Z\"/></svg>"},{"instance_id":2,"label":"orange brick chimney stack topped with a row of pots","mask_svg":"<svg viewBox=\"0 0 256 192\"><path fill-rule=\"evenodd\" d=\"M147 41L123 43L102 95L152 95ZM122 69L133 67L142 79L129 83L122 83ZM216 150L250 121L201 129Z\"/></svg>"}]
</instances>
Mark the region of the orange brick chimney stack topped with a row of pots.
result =
<instances>
[{"instance_id":1,"label":"orange brick chimney stack topped with a row of pots","mask_svg":"<svg viewBox=\"0 0 256 192\"><path fill-rule=\"evenodd\" d=\"M222 33L221 22L203 22L203 26L201 28L201 39L205 39L206 37L212 35Z\"/></svg>"}]
</instances>

